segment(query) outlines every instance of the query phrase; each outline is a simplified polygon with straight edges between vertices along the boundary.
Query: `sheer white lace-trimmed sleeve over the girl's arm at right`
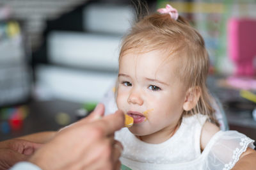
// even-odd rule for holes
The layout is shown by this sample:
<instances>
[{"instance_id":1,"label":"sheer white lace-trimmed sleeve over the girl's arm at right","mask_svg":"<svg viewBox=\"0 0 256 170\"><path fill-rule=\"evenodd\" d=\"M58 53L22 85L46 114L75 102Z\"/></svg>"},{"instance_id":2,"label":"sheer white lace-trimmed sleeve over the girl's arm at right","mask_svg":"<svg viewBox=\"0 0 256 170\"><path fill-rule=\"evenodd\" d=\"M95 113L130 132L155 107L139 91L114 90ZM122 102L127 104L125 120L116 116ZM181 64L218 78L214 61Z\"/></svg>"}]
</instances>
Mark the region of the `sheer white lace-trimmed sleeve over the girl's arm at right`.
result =
<instances>
[{"instance_id":1,"label":"sheer white lace-trimmed sleeve over the girl's arm at right","mask_svg":"<svg viewBox=\"0 0 256 170\"><path fill-rule=\"evenodd\" d=\"M255 148L253 140L234 130L220 131L209 141L206 166L209 169L231 169L247 147Z\"/></svg>"}]
</instances>

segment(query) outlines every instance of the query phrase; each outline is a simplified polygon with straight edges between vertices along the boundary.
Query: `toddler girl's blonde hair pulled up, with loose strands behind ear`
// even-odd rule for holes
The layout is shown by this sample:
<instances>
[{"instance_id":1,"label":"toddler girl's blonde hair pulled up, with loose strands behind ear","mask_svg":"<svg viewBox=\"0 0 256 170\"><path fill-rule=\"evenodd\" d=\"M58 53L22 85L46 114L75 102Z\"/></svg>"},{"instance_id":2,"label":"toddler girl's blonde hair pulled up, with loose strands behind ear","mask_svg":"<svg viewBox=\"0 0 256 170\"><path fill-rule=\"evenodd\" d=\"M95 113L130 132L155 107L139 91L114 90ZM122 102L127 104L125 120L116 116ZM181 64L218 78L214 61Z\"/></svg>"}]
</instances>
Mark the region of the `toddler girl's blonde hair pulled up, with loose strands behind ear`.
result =
<instances>
[{"instance_id":1,"label":"toddler girl's blonde hair pulled up, with loose strands behind ear","mask_svg":"<svg viewBox=\"0 0 256 170\"><path fill-rule=\"evenodd\" d=\"M198 104L191 111L184 111L183 115L205 114L218 125L214 118L214 109L211 107L211 96L205 86L209 56L202 36L180 16L179 19L173 20L168 14L153 13L134 24L129 34L124 37L119 61L127 52L152 50L164 50L167 56L179 58L177 73L180 81L184 82L188 89L200 87Z\"/></svg>"}]
</instances>

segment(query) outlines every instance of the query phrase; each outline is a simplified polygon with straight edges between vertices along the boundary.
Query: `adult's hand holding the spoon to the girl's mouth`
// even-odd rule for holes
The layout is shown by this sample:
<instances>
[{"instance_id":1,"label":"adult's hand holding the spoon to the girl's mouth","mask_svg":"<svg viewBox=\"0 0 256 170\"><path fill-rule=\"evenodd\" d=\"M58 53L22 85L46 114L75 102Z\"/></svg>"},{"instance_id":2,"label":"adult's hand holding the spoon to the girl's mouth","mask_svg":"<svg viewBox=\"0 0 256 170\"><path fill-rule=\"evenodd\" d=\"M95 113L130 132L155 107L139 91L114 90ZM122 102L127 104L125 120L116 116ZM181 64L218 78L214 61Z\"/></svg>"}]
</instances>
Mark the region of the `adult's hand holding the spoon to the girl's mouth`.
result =
<instances>
[{"instance_id":1,"label":"adult's hand holding the spoon to the girl's mouth","mask_svg":"<svg viewBox=\"0 0 256 170\"><path fill-rule=\"evenodd\" d=\"M124 114L103 114L99 104L90 116L60 130L29 161L42 169L120 169L122 144L113 137L124 127Z\"/></svg>"}]
</instances>

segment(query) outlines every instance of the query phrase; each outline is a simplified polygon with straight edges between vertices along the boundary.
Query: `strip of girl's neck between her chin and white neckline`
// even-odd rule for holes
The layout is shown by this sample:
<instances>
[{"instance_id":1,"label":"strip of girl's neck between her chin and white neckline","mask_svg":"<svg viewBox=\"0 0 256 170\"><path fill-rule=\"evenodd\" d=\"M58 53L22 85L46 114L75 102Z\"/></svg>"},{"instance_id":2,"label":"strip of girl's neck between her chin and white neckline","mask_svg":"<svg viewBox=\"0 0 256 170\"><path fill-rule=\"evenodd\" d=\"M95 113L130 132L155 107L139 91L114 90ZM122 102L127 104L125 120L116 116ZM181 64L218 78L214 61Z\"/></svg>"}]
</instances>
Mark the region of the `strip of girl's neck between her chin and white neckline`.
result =
<instances>
[{"instance_id":1,"label":"strip of girl's neck between her chin and white neckline","mask_svg":"<svg viewBox=\"0 0 256 170\"><path fill-rule=\"evenodd\" d=\"M136 135L136 137L145 143L159 144L170 139L175 134L175 132L177 132L179 127L180 127L180 123L178 123L173 128L162 129L161 132L158 131L158 132L155 132L154 134L142 135L142 136Z\"/></svg>"}]
</instances>

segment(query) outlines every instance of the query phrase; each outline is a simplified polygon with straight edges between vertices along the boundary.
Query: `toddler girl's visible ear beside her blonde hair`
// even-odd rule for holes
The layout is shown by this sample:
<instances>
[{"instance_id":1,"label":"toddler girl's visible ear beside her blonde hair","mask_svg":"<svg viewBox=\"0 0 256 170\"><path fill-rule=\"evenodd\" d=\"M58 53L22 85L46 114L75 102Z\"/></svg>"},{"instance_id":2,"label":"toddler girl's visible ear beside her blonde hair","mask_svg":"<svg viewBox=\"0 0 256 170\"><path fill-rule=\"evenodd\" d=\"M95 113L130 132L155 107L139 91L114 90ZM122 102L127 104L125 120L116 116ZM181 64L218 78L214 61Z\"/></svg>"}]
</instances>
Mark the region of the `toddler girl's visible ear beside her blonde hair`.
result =
<instances>
[{"instance_id":1,"label":"toddler girl's visible ear beside her blonde hair","mask_svg":"<svg viewBox=\"0 0 256 170\"><path fill-rule=\"evenodd\" d=\"M195 86L193 88L189 88L186 93L185 101L183 104L183 109L185 111L190 111L191 109L193 109L193 107L196 106L196 104L200 98L200 95L201 95L200 87Z\"/></svg>"}]
</instances>

